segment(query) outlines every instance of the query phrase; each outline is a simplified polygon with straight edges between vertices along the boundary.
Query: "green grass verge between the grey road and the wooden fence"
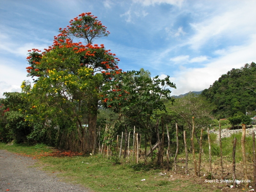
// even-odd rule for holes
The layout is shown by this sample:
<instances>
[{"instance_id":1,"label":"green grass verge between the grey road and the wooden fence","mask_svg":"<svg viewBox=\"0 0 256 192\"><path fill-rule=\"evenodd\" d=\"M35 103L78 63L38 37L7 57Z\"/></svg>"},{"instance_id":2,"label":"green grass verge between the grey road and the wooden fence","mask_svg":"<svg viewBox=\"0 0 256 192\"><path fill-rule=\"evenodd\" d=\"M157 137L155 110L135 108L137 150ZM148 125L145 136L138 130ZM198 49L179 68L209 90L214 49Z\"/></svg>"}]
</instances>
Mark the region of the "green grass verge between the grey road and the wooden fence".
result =
<instances>
[{"instance_id":1,"label":"green grass verge between the grey road and the wooden fence","mask_svg":"<svg viewBox=\"0 0 256 192\"><path fill-rule=\"evenodd\" d=\"M36 166L43 167L49 174L56 174L60 180L82 184L93 191L218 191L220 188L203 183L204 178L197 179L167 172L166 176L158 176L164 170L154 169L153 164L123 163L114 164L113 160L94 156L44 156L52 152L52 148L42 146L26 146L0 144L0 149L39 158ZM41 156L40 156L41 155ZM41 158L40 158L41 157ZM53 173L54 172L54 173ZM170 175L173 177L170 177ZM181 178L182 177L182 178ZM146 181L141 181L146 179ZM200 181L200 182L198 182Z\"/></svg>"}]
</instances>

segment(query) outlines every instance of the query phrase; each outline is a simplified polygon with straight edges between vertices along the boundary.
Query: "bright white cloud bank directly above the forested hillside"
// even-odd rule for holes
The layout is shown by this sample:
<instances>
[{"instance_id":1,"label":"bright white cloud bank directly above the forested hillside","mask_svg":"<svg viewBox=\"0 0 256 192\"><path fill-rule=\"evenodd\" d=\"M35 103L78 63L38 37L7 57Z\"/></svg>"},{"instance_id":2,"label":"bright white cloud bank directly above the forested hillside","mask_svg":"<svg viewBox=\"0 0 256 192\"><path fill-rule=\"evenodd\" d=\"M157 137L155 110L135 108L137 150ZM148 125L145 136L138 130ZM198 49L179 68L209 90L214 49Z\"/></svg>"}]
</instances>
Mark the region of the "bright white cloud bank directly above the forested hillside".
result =
<instances>
[{"instance_id":1,"label":"bright white cloud bank directly above the forested hillside","mask_svg":"<svg viewBox=\"0 0 256 192\"><path fill-rule=\"evenodd\" d=\"M203 68L183 68L183 70L175 71L173 83L176 84L177 89L172 91L172 95L208 89L215 80L232 68L241 68L245 63L255 62L256 35L251 38L250 42L246 46L227 48L227 54L212 59Z\"/></svg>"}]
</instances>

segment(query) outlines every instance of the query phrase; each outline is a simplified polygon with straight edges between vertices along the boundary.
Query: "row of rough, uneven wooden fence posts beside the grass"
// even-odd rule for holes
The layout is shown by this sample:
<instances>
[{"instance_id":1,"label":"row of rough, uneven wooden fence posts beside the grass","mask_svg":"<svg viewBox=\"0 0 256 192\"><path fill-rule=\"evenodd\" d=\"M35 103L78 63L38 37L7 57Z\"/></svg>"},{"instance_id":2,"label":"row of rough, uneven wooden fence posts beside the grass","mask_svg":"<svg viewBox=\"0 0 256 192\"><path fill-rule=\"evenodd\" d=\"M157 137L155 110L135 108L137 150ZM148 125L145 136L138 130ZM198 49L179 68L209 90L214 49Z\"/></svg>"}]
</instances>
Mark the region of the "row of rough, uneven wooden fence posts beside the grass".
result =
<instances>
[{"instance_id":1,"label":"row of rough, uneven wooden fence posts beside the grass","mask_svg":"<svg viewBox=\"0 0 256 192\"><path fill-rule=\"evenodd\" d=\"M156 132L157 132L157 142L155 145L151 146L150 145L150 150L147 152L147 145L145 145L145 162L147 161L147 156L149 156L152 151L154 151L156 148L158 148L158 152L157 152L157 156L158 156L158 164L160 164L163 167L163 160L161 160L161 156L163 159L163 147L164 147L164 124L162 124L162 138L160 140L160 135L159 135L159 131L158 131L158 124L159 124L159 120L157 120L157 126L156 126ZM107 132L108 126L106 125L106 129L105 132ZM169 129L168 129L168 125L166 124L166 134L167 134L167 141L168 141L168 148L166 151L166 168L167 170L169 170L170 165L170 155L171 155L171 149L170 149L170 145L172 144L176 144L176 152L175 152L175 156L173 158L173 163L174 163L174 170L175 172L177 171L177 156L179 153L179 130L178 130L178 124L175 124L176 127L176 142L171 142L170 141L170 136L169 136ZM195 134L195 124L194 124L194 117L192 118L192 134L191 134L191 145L190 147L192 147L192 154L193 154L193 161L194 161L194 171L195 171L195 176L200 177L200 170L201 170L201 154L202 154L202 138L203 138L203 128L201 129L200 132L200 140L199 140L199 155L198 155L198 165L197 165L197 160L196 160L196 156L195 156L195 149L196 147L194 146L194 134ZM246 125L242 124L242 138L241 138L241 148L242 148L242 156L243 156L243 172L244 172L244 180L248 180L248 174L247 174L247 165L246 165L246 153L245 153L245 134L246 134ZM128 135L128 138L127 138ZM124 158L126 157L126 152L127 152L127 157L128 160L130 160L130 135L131 132L129 132L129 134L127 133L127 129L126 129L126 133L125 133L125 146L126 143L128 143L128 147L126 150L126 147L124 149ZM122 136L121 136L121 142L120 142L120 148L119 148L119 158L121 158L122 155L122 143L123 143L123 136L124 133L122 132ZM181 135L182 136L182 135ZM145 136L146 137L146 136ZM185 154L186 154L186 158L185 158L185 174L188 174L188 146L187 146L187 140L186 140L186 131L183 131L183 139L184 139L184 145L183 147L185 148ZM103 152L103 157L105 156L105 152L106 152L106 156L108 157L109 155L112 156L112 150L110 149L111 146L107 145L107 150L106 150L106 142L104 145L104 141L109 139L107 136L104 137L103 143L101 145L100 148L100 144L99 144L99 154L102 154ZM119 136L117 135L116 138L116 154L118 153L118 139ZM209 165L210 165L210 176L211 179L213 179L213 170L212 170L212 148L211 148L211 140L210 139L210 133L209 133L209 128L207 128L207 139L208 139L208 145L209 145ZM232 151L232 179L233 179L233 188L236 188L236 137L234 137L234 143L233 143L233 151ZM215 141L215 140L214 140ZM253 175L254 175L254 191L256 191L256 157L255 157L255 133L254 131L252 131L252 141L253 141ZM222 156L222 141L221 141L221 124L219 122L219 143L220 143L220 176L221 179L224 179L223 177L223 156ZM132 161L134 161L134 158L136 156L136 163L139 163L139 133L136 133L135 130L135 126L134 126L134 130L133 130L133 145L132 145ZM104 149L103 149L104 146ZM162 152L161 152L162 151ZM109 154L110 153L110 154ZM162 154L161 154L162 153ZM152 154L151 154L152 155ZM153 157L153 156L152 156ZM159 158L160 157L160 158ZM246 188L249 188L249 182L247 182L245 184Z\"/></svg>"}]
</instances>

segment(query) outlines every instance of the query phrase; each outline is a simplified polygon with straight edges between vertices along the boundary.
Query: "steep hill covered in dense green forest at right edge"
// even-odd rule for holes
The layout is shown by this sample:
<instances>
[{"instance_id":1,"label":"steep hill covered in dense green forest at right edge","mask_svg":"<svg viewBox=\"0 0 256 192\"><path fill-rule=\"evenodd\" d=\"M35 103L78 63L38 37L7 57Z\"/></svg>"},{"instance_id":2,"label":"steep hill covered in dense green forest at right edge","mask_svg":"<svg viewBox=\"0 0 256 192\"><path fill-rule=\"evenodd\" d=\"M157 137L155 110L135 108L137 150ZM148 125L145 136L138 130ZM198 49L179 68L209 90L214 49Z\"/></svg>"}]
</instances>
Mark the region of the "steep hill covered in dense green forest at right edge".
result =
<instances>
[{"instance_id":1,"label":"steep hill covered in dense green forest at right edge","mask_svg":"<svg viewBox=\"0 0 256 192\"><path fill-rule=\"evenodd\" d=\"M219 118L246 111L256 115L256 64L231 69L201 94L214 105L213 113Z\"/></svg>"}]
</instances>

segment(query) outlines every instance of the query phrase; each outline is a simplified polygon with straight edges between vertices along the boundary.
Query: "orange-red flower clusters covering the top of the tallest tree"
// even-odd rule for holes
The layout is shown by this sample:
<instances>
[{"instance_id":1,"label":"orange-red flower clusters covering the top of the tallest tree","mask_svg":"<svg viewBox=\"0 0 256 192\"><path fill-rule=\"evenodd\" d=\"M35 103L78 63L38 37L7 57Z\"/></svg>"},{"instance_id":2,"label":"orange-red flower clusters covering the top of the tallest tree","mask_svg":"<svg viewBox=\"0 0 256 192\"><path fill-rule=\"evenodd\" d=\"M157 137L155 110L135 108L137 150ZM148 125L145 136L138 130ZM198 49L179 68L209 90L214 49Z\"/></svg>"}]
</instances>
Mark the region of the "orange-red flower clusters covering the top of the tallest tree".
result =
<instances>
[{"instance_id":1,"label":"orange-red flower clusters covering the top of the tallest tree","mask_svg":"<svg viewBox=\"0 0 256 192\"><path fill-rule=\"evenodd\" d=\"M89 24L85 24L86 22L84 22L84 20L88 20L88 16L94 20L92 23L92 26L88 26ZM84 18L84 17L86 17L86 18ZM74 51L75 53L82 54L85 59L90 59L90 57L96 57L97 53L99 52L98 51L99 49L103 49L102 51L104 51L105 55L116 56L116 54L110 52L111 50L104 50L105 49L104 44L92 45L89 43L87 45L83 45L82 42L73 43L72 39L69 38L68 34L70 34L71 31L72 31L72 34L74 34L77 37L80 37L79 33L82 34L81 31L83 31L83 30L87 31L87 33L90 31L95 34L98 33L97 32L98 30L101 30L99 32L102 32L102 30L103 30L103 32L105 34L106 34L106 32L109 33L108 31L106 31L107 27L103 26L101 21L97 20L96 18L97 17L94 17L91 14L91 12L87 12L87 13L81 13L80 15L78 15L78 17L74 18L73 20L70 20L69 21L70 26L67 26L67 28L60 28L59 29L60 34L57 36L54 36L52 46L49 46L47 49L44 49L45 51L42 52L40 55L32 55L30 53L30 55L27 57L27 60L31 64L31 67L27 68L28 69L27 72L31 73L31 69L38 68L38 67L35 67L35 65L33 65L33 63L40 64L40 62L39 62L40 60L37 60L35 57L42 58L42 56L45 55L47 52L50 52L56 48L71 48L71 50ZM89 32L89 34L91 34L90 32ZM31 52L31 50L28 50L28 51ZM32 49L32 51L33 52L41 52L38 49ZM60 56L62 56L62 55L60 55ZM65 58L62 58L62 61L65 61ZM101 73L105 74L105 75L113 75L113 76L116 74L122 73L121 69L117 70L118 69L117 61L120 61L117 57L115 57L114 59L109 58L106 61L102 61L101 64L103 66L100 69L100 70L102 70ZM50 63L49 63L49 65L50 65ZM87 66L87 64L80 63L80 66ZM37 71L39 71L39 69L35 69L35 71L37 72ZM112 80L111 77L108 77L108 79Z\"/></svg>"}]
</instances>

